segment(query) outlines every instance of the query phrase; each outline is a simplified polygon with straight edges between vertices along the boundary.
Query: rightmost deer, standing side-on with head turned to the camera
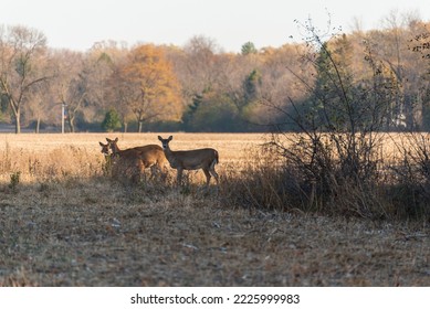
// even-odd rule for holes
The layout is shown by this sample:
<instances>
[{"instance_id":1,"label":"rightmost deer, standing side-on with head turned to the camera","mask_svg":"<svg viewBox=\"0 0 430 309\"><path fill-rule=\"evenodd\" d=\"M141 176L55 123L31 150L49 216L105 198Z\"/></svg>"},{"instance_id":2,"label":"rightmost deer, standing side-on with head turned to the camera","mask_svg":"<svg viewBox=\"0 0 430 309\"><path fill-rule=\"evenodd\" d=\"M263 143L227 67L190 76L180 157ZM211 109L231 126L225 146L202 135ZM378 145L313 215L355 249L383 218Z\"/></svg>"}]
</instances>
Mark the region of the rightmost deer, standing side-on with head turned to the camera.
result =
<instances>
[{"instance_id":1,"label":"rightmost deer, standing side-on with head turned to the camera","mask_svg":"<svg viewBox=\"0 0 430 309\"><path fill-rule=\"evenodd\" d=\"M217 183L219 182L218 173L214 166L218 163L218 151L212 148L174 151L169 147L169 141L174 139L172 136L164 139L158 136L161 141L162 150L172 169L178 171L177 182L182 182L183 170L199 170L202 169L206 175L206 185L209 185L211 175L214 177Z\"/></svg>"}]
</instances>

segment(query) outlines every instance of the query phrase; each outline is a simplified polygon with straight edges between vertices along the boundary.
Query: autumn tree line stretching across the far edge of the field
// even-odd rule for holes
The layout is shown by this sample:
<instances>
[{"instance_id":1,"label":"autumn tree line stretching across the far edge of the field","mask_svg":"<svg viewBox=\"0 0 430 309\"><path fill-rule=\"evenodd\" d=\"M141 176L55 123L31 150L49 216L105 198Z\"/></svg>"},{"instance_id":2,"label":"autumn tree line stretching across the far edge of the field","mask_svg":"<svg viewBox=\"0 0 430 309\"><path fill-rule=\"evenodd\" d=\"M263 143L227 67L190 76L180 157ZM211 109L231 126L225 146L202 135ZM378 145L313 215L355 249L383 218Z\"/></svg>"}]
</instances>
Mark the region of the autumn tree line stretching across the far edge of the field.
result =
<instances>
[{"instance_id":1,"label":"autumn tree line stretching across the far edge of the field","mask_svg":"<svg viewBox=\"0 0 430 309\"><path fill-rule=\"evenodd\" d=\"M306 40L263 49L245 42L240 53L226 53L206 36L183 46L99 42L76 52L50 49L35 29L3 25L0 122L14 125L17 134L55 129L63 120L72 132L265 131L279 124L296 130L303 121L289 121L285 115L306 110L329 114L342 127L348 113L308 103L313 96L335 102L338 87L345 87L360 94L348 108L359 113L369 103L384 108L384 129L428 130L429 29L417 18L395 13L385 25L357 26L348 34L329 31L322 35L323 54ZM331 83L327 55L342 68L336 72L342 85ZM331 106L336 109L335 103Z\"/></svg>"}]
</instances>

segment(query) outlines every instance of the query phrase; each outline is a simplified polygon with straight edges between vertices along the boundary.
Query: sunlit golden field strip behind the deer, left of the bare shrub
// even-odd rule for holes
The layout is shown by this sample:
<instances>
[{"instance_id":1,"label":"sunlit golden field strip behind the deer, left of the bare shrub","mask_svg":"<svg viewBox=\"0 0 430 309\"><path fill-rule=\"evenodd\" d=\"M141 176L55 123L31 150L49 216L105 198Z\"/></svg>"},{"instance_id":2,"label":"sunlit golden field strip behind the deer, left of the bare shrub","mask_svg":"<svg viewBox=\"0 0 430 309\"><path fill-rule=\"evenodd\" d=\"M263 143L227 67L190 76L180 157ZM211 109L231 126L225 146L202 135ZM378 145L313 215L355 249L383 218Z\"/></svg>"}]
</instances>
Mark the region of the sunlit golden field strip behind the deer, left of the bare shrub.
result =
<instances>
[{"instance_id":1,"label":"sunlit golden field strip behind the deer, left of the bare shrub","mask_svg":"<svg viewBox=\"0 0 430 309\"><path fill-rule=\"evenodd\" d=\"M168 137L170 134L160 134ZM216 148L220 153L219 168L240 169L247 151L264 141L259 134L171 134L172 150ZM8 182L10 173L20 171L20 180L31 182L46 177L92 177L102 173L104 162L99 141L119 138L123 149L159 145L158 134L74 134L74 135L0 135L0 179ZM202 174L202 172L200 172ZM200 173L196 179L200 180Z\"/></svg>"}]
</instances>

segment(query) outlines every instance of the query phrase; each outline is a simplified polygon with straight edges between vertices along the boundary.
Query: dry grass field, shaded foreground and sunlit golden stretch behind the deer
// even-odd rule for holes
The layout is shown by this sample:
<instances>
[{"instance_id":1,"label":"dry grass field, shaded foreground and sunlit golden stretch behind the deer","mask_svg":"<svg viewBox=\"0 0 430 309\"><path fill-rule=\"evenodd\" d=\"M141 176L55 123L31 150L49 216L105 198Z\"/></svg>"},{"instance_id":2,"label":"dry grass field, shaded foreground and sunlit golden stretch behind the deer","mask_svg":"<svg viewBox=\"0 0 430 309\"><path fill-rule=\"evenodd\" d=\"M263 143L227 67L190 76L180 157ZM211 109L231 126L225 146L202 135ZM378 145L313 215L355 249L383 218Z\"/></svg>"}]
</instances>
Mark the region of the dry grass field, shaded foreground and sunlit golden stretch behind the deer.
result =
<instances>
[{"instance_id":1,"label":"dry grass field, shaded foreground and sunlit golden stretch behind the deer","mask_svg":"<svg viewBox=\"0 0 430 309\"><path fill-rule=\"evenodd\" d=\"M0 135L0 286L430 286L427 222L327 217L230 204L261 135L175 134L213 147L220 185L104 175L98 141L144 135ZM162 137L168 135L162 134ZM260 188L249 188L259 192Z\"/></svg>"}]
</instances>

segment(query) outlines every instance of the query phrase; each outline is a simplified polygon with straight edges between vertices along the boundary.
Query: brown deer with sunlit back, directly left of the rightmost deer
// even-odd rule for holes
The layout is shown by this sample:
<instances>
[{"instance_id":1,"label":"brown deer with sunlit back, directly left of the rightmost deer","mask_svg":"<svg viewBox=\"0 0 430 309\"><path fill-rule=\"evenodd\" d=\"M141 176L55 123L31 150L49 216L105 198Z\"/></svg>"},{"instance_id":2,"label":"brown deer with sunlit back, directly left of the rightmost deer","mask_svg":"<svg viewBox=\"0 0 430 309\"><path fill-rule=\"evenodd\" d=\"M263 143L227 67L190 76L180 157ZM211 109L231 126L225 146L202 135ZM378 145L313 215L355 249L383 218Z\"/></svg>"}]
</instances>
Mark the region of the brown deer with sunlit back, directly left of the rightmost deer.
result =
<instances>
[{"instance_id":1,"label":"brown deer with sunlit back, directly left of the rightmost deer","mask_svg":"<svg viewBox=\"0 0 430 309\"><path fill-rule=\"evenodd\" d=\"M134 148L128 148L125 150L120 150L117 142L118 138L115 138L115 140L112 140L109 138L106 138L107 145L112 150L113 157L138 157L141 161L140 169L145 170L147 168L150 168L151 171L151 178L157 174L157 172L160 172L162 175L162 179L165 179L167 174L167 159L162 151L162 148L158 145L146 145L146 146L139 146ZM101 145L102 146L102 145Z\"/></svg>"}]
</instances>

